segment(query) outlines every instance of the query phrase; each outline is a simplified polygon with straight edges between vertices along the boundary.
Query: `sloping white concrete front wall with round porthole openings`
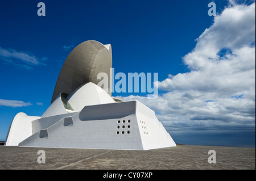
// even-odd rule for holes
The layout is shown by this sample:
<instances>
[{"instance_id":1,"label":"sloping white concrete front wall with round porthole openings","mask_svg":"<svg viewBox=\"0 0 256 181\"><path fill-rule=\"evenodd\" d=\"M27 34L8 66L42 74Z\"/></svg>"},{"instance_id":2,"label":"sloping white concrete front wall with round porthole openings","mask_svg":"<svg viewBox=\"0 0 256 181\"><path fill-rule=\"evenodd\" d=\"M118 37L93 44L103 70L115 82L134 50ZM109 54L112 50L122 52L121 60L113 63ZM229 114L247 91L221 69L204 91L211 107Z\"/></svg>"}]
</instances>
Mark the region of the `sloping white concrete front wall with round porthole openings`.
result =
<instances>
[{"instance_id":1,"label":"sloping white concrete front wall with round porthole openings","mask_svg":"<svg viewBox=\"0 0 256 181\"><path fill-rule=\"evenodd\" d=\"M86 106L40 129L19 146L127 150L176 146L154 115L138 101Z\"/></svg>"}]
</instances>

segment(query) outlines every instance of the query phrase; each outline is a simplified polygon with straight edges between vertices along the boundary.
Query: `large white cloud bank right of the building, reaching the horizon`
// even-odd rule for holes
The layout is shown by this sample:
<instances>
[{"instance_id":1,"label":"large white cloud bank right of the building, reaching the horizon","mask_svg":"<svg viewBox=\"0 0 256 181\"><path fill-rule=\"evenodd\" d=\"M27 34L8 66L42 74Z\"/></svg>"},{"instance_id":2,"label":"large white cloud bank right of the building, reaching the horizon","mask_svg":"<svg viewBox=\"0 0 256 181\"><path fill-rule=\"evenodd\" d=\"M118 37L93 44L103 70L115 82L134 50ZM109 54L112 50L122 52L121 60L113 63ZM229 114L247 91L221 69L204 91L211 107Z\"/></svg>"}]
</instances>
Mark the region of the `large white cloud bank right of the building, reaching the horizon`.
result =
<instances>
[{"instance_id":1,"label":"large white cloud bank right of the building, reaching the horizon","mask_svg":"<svg viewBox=\"0 0 256 181\"><path fill-rule=\"evenodd\" d=\"M167 93L118 98L152 108L167 131L255 130L255 3L232 3L183 57L189 71L158 82Z\"/></svg>"}]
</instances>

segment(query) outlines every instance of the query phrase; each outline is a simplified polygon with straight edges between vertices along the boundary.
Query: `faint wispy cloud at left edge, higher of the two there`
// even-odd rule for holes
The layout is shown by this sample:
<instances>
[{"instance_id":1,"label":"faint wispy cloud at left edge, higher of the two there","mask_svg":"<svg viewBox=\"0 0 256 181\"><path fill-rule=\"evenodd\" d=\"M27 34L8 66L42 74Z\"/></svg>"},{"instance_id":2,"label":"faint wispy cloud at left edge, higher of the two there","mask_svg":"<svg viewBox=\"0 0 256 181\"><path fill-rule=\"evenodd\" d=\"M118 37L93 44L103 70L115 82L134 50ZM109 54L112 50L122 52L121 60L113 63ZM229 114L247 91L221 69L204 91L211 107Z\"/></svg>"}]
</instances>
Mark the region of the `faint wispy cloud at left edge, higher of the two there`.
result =
<instances>
[{"instance_id":1,"label":"faint wispy cloud at left edge, higher of the two there","mask_svg":"<svg viewBox=\"0 0 256 181\"><path fill-rule=\"evenodd\" d=\"M32 66L44 65L42 62L47 60L47 57L38 58L31 53L0 47L0 60L20 68L32 69Z\"/></svg>"}]
</instances>

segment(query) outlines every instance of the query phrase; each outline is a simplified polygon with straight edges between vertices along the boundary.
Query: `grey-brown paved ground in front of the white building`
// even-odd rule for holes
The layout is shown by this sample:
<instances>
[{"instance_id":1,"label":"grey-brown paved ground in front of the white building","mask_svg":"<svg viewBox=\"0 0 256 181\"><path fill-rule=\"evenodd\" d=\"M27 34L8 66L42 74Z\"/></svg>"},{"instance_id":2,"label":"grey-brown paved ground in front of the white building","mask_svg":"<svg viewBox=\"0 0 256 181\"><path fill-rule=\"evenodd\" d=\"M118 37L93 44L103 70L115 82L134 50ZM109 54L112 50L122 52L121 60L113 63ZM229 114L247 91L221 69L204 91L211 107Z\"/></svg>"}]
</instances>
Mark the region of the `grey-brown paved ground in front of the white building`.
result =
<instances>
[{"instance_id":1,"label":"grey-brown paved ground in front of the white building","mask_svg":"<svg viewBox=\"0 0 256 181\"><path fill-rule=\"evenodd\" d=\"M39 164L38 150L46 153ZM208 151L216 151L216 163L208 163ZM0 169L86 170L255 170L255 149L222 146L177 145L146 151L24 148L0 145Z\"/></svg>"}]
</instances>

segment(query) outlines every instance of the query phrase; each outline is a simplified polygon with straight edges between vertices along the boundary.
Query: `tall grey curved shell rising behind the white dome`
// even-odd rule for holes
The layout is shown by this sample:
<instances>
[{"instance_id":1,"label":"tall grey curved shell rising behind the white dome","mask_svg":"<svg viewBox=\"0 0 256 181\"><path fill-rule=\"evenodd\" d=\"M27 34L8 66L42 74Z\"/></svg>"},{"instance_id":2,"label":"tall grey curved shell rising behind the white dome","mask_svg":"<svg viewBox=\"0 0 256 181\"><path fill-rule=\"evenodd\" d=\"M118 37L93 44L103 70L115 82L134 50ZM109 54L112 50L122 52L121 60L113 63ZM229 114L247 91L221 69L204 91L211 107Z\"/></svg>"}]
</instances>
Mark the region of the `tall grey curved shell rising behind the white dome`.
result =
<instances>
[{"instance_id":1,"label":"tall grey curved shell rising behind the white dome","mask_svg":"<svg viewBox=\"0 0 256 181\"><path fill-rule=\"evenodd\" d=\"M86 82L93 82L97 85L101 81L97 79L98 73L108 75L108 94L111 96L110 68L112 68L112 48L110 44L103 45L98 41L89 40L77 45L69 53L63 64L51 103L60 92L71 94L77 87Z\"/></svg>"}]
</instances>

